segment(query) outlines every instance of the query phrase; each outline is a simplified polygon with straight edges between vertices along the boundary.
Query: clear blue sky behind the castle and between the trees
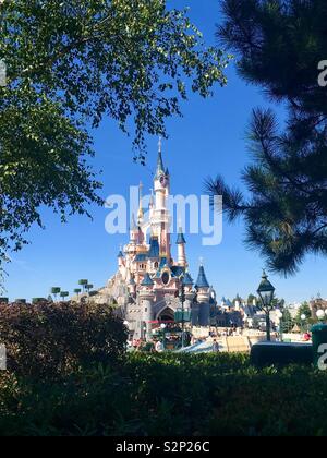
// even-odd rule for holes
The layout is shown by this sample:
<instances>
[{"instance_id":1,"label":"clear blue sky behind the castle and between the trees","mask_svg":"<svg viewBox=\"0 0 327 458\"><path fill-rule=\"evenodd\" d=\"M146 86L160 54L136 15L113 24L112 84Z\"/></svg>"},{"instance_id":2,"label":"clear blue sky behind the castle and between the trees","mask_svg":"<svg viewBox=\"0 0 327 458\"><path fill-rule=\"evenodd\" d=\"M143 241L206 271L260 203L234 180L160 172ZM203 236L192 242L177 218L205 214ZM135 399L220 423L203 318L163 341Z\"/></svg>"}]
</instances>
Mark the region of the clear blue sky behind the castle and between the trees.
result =
<instances>
[{"instance_id":1,"label":"clear blue sky behind the castle and between the trees","mask_svg":"<svg viewBox=\"0 0 327 458\"><path fill-rule=\"evenodd\" d=\"M217 0L174 0L175 8L191 7L190 16L204 32L208 44L215 43L215 24L219 23ZM234 67L228 70L226 88L216 88L213 99L190 97L183 107L184 117L168 122L169 140L164 142L165 161L172 176L174 194L202 194L204 180L209 174L222 174L234 185L241 185L240 171L249 164L244 132L253 107L263 106L258 88L245 85L235 74ZM280 116L282 112L280 111ZM154 169L158 138L148 140L148 169ZM131 141L114 123L107 120L95 135L95 169L102 170L104 196L129 195L129 186L140 180L152 188L148 169L132 160ZM126 242L122 236L108 236L105 219L108 210L93 208L94 219L73 217L61 225L50 212L43 212L46 230L34 228L29 233L31 245L13 255L5 281L11 299L48 296L51 286L72 291L80 278L88 278L95 287L101 287L116 272L119 245ZM257 253L243 245L244 226L225 224L222 244L216 248L202 246L202 236L187 240L187 253L193 277L198 269L199 257L204 258L209 281L218 297L246 297L254 292L261 279L264 261ZM307 257L301 272L284 279L271 276L277 294L288 301L310 299L317 292L327 297L327 260Z\"/></svg>"}]
</instances>

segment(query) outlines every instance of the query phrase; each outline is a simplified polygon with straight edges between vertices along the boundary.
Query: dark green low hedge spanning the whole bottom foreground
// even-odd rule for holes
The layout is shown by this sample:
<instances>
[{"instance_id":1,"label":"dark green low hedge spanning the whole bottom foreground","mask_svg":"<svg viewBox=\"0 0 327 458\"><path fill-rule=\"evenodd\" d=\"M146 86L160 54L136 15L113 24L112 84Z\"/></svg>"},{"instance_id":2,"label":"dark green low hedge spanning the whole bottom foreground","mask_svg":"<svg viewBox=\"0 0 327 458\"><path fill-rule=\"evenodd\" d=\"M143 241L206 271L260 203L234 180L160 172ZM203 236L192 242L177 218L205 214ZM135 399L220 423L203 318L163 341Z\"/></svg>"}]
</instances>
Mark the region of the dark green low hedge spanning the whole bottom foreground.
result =
<instances>
[{"instance_id":1,"label":"dark green low hedge spanning the whole bottom foreground","mask_svg":"<svg viewBox=\"0 0 327 458\"><path fill-rule=\"evenodd\" d=\"M2 435L326 435L326 374L244 355L131 354L53 384L0 374Z\"/></svg>"}]
</instances>

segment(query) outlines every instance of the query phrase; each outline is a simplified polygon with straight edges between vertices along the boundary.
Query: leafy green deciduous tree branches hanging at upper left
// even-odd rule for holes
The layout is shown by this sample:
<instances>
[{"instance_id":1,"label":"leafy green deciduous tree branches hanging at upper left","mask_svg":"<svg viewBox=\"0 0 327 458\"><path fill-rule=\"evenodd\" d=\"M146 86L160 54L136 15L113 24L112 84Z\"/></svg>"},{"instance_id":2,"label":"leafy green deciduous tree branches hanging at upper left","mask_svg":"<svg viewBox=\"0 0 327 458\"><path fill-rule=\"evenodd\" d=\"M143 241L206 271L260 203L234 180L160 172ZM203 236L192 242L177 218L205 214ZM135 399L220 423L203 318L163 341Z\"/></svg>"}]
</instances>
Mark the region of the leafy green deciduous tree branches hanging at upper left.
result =
<instances>
[{"instance_id":1,"label":"leafy green deciduous tree branches hanging at upper left","mask_svg":"<svg viewBox=\"0 0 327 458\"><path fill-rule=\"evenodd\" d=\"M223 86L227 59L162 0L3 0L0 22L3 263L32 225L43 227L41 207L65 221L102 204L89 126L104 117L125 133L134 125L144 164L145 134L167 134L190 88L207 97Z\"/></svg>"}]
</instances>

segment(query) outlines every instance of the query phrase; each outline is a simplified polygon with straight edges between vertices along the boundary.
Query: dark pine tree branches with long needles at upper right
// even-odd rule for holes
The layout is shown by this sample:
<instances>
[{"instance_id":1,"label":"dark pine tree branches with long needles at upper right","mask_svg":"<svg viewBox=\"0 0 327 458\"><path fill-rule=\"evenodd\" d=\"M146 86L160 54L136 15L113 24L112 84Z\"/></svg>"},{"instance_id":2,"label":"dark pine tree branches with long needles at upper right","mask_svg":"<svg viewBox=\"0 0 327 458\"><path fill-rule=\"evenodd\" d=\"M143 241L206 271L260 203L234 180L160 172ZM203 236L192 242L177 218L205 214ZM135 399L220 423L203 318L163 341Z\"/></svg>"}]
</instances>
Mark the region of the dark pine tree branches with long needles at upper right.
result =
<instances>
[{"instance_id":1,"label":"dark pine tree branches with long needles at upper right","mask_svg":"<svg viewBox=\"0 0 327 458\"><path fill-rule=\"evenodd\" d=\"M223 195L230 221L244 217L246 243L271 270L294 274L308 253L327 254L327 91L318 84L326 57L326 0L225 0L220 40L239 57L239 73L282 103L286 124L255 109L249 129L249 193L208 180ZM319 65L320 67L320 65Z\"/></svg>"}]
</instances>

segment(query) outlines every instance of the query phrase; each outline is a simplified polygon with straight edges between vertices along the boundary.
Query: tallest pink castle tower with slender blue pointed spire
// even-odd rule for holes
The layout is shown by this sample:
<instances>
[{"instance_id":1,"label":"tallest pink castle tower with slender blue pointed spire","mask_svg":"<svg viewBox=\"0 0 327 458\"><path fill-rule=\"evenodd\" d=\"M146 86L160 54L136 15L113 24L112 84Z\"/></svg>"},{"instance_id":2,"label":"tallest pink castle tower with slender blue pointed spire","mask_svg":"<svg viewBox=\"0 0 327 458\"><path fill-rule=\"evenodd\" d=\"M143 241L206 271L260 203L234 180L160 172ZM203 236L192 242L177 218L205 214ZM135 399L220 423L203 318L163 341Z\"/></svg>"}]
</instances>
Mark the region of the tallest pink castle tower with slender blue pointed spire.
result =
<instances>
[{"instance_id":1,"label":"tallest pink castle tower with slender blue pointed spire","mask_svg":"<svg viewBox=\"0 0 327 458\"><path fill-rule=\"evenodd\" d=\"M156 202L153 212L153 234L159 238L160 255L162 257L167 257L167 261L170 264L170 215L168 210L168 197L170 194L170 177L168 170L165 170L164 167L161 138L159 141L159 153L154 188L156 194Z\"/></svg>"}]
</instances>

